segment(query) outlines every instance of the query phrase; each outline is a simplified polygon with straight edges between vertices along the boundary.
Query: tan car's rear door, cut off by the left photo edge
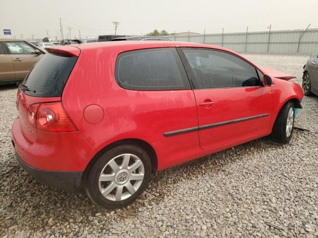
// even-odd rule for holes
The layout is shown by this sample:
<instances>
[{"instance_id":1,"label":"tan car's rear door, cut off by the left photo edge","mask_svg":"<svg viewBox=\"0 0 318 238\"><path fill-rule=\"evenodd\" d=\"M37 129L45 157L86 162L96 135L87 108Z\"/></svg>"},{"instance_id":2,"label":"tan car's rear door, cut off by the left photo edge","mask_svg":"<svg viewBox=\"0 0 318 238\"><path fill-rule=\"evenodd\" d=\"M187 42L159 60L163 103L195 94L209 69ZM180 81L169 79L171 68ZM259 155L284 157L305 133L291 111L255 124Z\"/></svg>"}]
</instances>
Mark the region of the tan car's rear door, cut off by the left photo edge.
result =
<instances>
[{"instance_id":1,"label":"tan car's rear door, cut off by the left photo edge","mask_svg":"<svg viewBox=\"0 0 318 238\"><path fill-rule=\"evenodd\" d=\"M0 83L1 81L14 80L14 68L11 57L6 54L4 47L0 42Z\"/></svg>"}]
</instances>

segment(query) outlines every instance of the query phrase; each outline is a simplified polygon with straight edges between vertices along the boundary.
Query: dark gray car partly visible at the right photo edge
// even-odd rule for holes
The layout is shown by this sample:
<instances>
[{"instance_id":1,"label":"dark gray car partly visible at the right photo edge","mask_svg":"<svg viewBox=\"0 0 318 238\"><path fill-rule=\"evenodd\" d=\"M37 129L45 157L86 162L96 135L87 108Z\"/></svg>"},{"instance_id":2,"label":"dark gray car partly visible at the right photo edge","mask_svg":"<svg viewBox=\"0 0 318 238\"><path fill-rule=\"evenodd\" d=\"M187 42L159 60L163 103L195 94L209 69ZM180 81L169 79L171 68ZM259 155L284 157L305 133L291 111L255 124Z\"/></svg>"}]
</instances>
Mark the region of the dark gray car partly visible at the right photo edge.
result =
<instances>
[{"instance_id":1,"label":"dark gray car partly visible at the right photo edge","mask_svg":"<svg viewBox=\"0 0 318 238\"><path fill-rule=\"evenodd\" d=\"M304 65L302 86L306 96L312 93L318 96L318 53L311 55Z\"/></svg>"}]
</instances>

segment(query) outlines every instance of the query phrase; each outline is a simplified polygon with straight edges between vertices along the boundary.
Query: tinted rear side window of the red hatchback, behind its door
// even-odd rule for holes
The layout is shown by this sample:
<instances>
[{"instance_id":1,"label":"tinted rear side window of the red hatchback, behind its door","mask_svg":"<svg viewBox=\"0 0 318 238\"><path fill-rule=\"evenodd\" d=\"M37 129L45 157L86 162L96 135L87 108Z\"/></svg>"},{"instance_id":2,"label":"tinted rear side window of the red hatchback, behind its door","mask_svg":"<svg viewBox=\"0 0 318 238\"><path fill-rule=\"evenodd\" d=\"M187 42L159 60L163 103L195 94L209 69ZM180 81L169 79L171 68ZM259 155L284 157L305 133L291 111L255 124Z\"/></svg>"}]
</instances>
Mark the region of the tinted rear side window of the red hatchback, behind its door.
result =
<instances>
[{"instance_id":1,"label":"tinted rear side window of the red hatchback, behind its door","mask_svg":"<svg viewBox=\"0 0 318 238\"><path fill-rule=\"evenodd\" d=\"M175 48L122 53L116 61L117 83L126 89L190 89L183 64Z\"/></svg>"}]
</instances>

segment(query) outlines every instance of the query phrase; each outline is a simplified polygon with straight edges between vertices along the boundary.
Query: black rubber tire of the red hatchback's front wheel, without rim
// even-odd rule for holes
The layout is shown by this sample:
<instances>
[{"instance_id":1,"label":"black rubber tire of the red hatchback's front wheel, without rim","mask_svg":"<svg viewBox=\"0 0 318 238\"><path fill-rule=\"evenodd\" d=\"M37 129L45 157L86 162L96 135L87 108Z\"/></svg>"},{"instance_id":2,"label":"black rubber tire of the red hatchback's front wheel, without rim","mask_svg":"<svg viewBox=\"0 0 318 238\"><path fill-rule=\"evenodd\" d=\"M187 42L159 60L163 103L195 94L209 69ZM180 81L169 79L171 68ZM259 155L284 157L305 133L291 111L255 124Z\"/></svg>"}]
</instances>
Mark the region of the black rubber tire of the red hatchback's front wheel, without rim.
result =
<instances>
[{"instance_id":1,"label":"black rubber tire of the red hatchback's front wheel, without rim","mask_svg":"<svg viewBox=\"0 0 318 238\"><path fill-rule=\"evenodd\" d=\"M289 136L287 136L286 127L287 127L288 113L291 108L294 110L294 104L291 101L289 101L283 106L283 108L278 113L276 121L273 126L272 134L271 134L272 140L282 144L286 144L290 141L290 138L292 137L292 134L293 134L294 121L293 121L292 130Z\"/></svg>"}]
</instances>

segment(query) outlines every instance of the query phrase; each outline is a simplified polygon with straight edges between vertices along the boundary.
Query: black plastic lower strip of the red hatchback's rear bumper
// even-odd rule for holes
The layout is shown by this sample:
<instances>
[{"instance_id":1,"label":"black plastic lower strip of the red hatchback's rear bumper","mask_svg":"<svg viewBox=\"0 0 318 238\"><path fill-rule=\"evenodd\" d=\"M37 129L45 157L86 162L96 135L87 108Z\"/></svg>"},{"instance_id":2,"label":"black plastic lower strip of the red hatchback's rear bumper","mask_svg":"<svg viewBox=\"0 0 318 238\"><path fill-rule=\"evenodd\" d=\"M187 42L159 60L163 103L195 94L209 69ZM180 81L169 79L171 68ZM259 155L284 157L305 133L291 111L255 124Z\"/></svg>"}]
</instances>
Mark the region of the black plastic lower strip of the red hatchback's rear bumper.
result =
<instances>
[{"instance_id":1,"label":"black plastic lower strip of the red hatchback's rear bumper","mask_svg":"<svg viewBox=\"0 0 318 238\"><path fill-rule=\"evenodd\" d=\"M48 186L65 191L77 191L80 188L83 172L38 170L26 164L17 153L15 153L15 157L29 175Z\"/></svg>"}]
</instances>

